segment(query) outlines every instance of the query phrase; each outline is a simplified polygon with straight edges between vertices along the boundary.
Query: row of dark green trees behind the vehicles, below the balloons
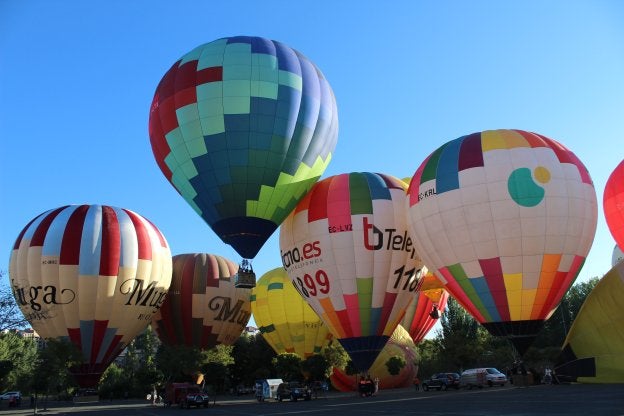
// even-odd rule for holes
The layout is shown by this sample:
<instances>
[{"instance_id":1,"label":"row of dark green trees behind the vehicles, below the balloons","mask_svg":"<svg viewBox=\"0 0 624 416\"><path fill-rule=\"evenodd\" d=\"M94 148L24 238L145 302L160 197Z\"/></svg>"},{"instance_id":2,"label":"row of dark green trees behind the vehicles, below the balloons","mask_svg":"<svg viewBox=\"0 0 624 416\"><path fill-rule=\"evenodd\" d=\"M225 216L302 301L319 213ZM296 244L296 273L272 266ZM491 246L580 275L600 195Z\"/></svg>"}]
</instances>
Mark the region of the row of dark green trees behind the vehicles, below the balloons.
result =
<instances>
[{"instance_id":1,"label":"row of dark green trees behind the vehicles, below the balloons","mask_svg":"<svg viewBox=\"0 0 624 416\"><path fill-rule=\"evenodd\" d=\"M525 354L529 368L538 372L552 366L565 335L585 297L598 279L574 285L559 308ZM15 308L10 290L0 292L0 328L23 327L25 322ZM20 322L21 320L21 322ZM449 300L441 318L441 329L432 339L417 346L414 363L402 357L391 357L386 364L390 374L398 374L405 365L418 367L419 376L439 371L461 371L475 366L494 366L501 370L511 366L516 357L503 338L493 337L457 302ZM35 341L13 331L0 335L0 388L18 389L35 394L63 397L73 394L77 386L68 369L80 362L80 353L67 342L49 341L37 348ZM144 397L153 386L163 387L168 381L197 380L212 393L221 394L237 386L252 386L256 379L326 380L333 367L355 374L355 369L339 343L333 343L322 354L302 360L295 354L276 355L261 335L243 335L232 346L218 346L209 351L190 347L162 345L148 328L126 349L104 373L99 393L107 398Z\"/></svg>"}]
</instances>

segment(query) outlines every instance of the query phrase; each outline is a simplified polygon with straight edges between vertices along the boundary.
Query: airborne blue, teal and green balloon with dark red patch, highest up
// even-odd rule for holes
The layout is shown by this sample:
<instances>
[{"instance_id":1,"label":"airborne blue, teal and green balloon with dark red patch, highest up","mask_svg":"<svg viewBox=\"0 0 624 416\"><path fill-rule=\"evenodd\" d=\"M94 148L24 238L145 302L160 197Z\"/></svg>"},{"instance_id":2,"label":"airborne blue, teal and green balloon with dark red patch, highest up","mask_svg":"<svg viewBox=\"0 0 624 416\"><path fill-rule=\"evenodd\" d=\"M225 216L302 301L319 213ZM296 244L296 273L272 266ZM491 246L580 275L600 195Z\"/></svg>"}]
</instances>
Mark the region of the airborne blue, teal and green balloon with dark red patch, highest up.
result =
<instances>
[{"instance_id":1,"label":"airborne blue, teal and green balloon with dark red patch, highest up","mask_svg":"<svg viewBox=\"0 0 624 416\"><path fill-rule=\"evenodd\" d=\"M235 36L173 64L156 88L149 134L167 180L251 259L325 171L338 113L329 83L301 53Z\"/></svg>"}]
</instances>

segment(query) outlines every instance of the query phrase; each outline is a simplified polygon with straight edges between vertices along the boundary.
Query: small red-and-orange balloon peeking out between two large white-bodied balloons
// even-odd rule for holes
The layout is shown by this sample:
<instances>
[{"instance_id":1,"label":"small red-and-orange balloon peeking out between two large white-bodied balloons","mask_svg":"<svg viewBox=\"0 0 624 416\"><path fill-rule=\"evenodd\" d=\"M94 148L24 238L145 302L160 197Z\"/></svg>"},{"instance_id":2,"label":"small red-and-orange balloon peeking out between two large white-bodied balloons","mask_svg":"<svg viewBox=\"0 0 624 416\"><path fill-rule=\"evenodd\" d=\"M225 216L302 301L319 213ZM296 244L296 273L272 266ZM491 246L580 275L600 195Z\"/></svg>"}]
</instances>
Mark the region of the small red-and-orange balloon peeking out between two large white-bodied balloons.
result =
<instances>
[{"instance_id":1,"label":"small red-and-orange balloon peeking out between two large white-bodied balloons","mask_svg":"<svg viewBox=\"0 0 624 416\"><path fill-rule=\"evenodd\" d=\"M415 344L425 339L440 314L444 313L448 296L444 285L433 273L423 277L418 296L405 309L401 320L401 326L409 332Z\"/></svg>"}]
</instances>

